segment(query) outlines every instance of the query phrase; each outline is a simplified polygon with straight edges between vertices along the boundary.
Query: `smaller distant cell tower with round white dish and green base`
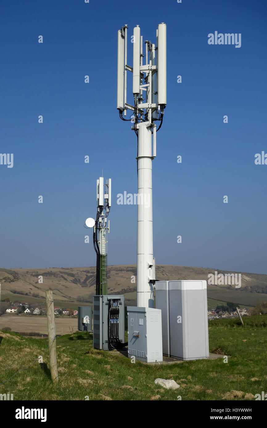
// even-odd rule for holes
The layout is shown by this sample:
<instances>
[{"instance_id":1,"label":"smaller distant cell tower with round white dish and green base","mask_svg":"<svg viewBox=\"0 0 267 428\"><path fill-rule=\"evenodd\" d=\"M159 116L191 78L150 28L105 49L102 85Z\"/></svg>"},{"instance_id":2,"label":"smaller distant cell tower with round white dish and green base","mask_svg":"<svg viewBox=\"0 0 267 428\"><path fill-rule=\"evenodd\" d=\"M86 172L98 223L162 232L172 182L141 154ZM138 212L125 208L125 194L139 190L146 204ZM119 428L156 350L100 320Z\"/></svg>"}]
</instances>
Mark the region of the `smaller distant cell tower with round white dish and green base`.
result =
<instances>
[{"instance_id":1,"label":"smaller distant cell tower with round white dish and green base","mask_svg":"<svg viewBox=\"0 0 267 428\"><path fill-rule=\"evenodd\" d=\"M104 191L106 187L106 191ZM93 246L96 251L96 294L108 294L107 284L107 217L111 208L111 178L104 184L104 178L96 180L96 220L87 218L85 226L93 227ZM99 236L99 238L98 238Z\"/></svg>"}]
</instances>

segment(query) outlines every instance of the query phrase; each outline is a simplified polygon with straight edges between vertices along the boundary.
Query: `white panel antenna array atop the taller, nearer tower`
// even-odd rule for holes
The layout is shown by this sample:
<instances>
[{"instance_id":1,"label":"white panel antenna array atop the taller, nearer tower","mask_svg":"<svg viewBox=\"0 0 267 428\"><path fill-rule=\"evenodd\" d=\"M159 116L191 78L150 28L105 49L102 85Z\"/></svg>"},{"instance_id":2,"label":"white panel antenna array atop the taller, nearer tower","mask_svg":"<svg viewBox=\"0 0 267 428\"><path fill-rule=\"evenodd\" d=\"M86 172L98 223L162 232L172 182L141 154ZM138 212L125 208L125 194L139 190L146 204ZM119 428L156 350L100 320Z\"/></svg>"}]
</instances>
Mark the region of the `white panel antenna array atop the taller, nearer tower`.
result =
<instances>
[{"instance_id":1,"label":"white panel antenna array atop the taller, nearer tower","mask_svg":"<svg viewBox=\"0 0 267 428\"><path fill-rule=\"evenodd\" d=\"M138 131L137 124L159 120L162 123L166 107L166 24L158 25L156 45L146 40L143 53L143 36L140 27L134 28L133 66L127 64L127 30L125 25L118 31L117 56L117 109L120 117L132 110L132 129ZM143 64L144 62L144 64ZM127 71L132 72L132 93L134 105L127 103ZM127 119L124 119L127 120Z\"/></svg>"}]
</instances>

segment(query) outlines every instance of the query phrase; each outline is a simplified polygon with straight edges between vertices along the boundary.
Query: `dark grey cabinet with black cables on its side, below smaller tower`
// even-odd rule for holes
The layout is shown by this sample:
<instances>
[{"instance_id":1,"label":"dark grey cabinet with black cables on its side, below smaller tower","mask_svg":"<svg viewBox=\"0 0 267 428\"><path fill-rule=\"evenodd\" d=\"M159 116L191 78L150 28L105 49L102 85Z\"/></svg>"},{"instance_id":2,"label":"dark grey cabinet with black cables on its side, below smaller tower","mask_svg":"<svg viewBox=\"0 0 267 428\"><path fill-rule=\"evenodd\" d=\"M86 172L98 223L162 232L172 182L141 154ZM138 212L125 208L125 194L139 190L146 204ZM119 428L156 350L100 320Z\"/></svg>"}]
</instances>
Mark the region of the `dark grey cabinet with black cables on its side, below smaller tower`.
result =
<instances>
[{"instance_id":1,"label":"dark grey cabinet with black cables on its side, below smaller tower","mask_svg":"<svg viewBox=\"0 0 267 428\"><path fill-rule=\"evenodd\" d=\"M112 343L115 343L116 340L120 343L125 342L124 316L124 296L93 296L94 348L108 351L109 341Z\"/></svg>"}]
</instances>

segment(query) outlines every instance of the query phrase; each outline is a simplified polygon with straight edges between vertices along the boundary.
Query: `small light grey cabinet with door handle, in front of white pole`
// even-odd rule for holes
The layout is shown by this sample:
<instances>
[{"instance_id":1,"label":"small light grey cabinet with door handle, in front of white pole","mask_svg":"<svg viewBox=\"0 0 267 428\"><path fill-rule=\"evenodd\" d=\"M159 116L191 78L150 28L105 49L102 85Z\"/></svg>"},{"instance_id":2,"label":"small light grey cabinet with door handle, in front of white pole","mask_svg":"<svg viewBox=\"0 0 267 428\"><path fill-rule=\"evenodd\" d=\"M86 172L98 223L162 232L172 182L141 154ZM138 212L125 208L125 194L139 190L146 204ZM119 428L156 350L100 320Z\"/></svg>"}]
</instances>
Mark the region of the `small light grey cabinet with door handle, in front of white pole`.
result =
<instances>
[{"instance_id":1,"label":"small light grey cabinet with door handle, in front of white pole","mask_svg":"<svg viewBox=\"0 0 267 428\"><path fill-rule=\"evenodd\" d=\"M146 363L162 361L161 310L127 306L128 356Z\"/></svg>"}]
</instances>

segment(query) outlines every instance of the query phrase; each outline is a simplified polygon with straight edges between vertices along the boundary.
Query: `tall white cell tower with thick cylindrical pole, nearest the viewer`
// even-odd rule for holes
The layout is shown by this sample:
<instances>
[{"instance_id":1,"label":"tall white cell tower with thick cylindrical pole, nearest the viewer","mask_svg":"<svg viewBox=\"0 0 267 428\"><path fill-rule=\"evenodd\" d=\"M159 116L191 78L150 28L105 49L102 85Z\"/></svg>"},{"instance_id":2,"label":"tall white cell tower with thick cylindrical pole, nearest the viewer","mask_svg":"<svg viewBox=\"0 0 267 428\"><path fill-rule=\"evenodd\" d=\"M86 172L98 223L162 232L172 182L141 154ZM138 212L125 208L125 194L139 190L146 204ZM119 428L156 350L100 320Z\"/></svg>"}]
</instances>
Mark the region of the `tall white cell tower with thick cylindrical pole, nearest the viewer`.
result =
<instances>
[{"instance_id":1,"label":"tall white cell tower with thick cylindrical pole, nearest the viewer","mask_svg":"<svg viewBox=\"0 0 267 428\"><path fill-rule=\"evenodd\" d=\"M127 29L125 25L118 31L117 109L122 120L132 122L138 138L137 306L153 308L152 160L166 107L166 24L158 25L156 44L143 43L139 26L134 28L132 67L127 64ZM133 76L133 105L127 103L127 71ZM125 118L127 110L133 112L129 119Z\"/></svg>"}]
</instances>

